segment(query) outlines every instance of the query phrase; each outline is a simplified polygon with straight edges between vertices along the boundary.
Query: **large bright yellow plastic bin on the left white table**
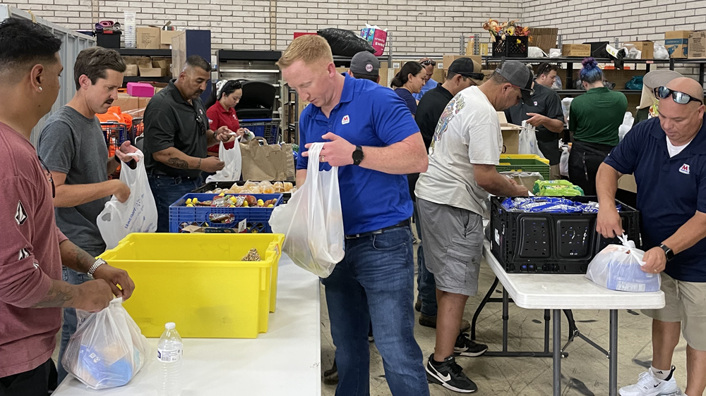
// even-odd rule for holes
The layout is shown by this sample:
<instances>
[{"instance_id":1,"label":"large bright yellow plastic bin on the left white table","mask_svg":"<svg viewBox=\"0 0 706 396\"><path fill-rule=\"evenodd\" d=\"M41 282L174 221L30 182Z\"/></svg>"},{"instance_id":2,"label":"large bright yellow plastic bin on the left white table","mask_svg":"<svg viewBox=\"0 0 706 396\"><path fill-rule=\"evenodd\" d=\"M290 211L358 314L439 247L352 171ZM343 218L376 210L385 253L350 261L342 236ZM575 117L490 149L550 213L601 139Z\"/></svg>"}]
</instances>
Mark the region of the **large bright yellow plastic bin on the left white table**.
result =
<instances>
[{"instance_id":1,"label":"large bright yellow plastic bin on the left white table","mask_svg":"<svg viewBox=\"0 0 706 396\"><path fill-rule=\"evenodd\" d=\"M128 235L100 257L128 271L124 307L146 337L175 322L184 338L257 338L277 301L282 234ZM262 261L240 261L256 248Z\"/></svg>"}]
</instances>

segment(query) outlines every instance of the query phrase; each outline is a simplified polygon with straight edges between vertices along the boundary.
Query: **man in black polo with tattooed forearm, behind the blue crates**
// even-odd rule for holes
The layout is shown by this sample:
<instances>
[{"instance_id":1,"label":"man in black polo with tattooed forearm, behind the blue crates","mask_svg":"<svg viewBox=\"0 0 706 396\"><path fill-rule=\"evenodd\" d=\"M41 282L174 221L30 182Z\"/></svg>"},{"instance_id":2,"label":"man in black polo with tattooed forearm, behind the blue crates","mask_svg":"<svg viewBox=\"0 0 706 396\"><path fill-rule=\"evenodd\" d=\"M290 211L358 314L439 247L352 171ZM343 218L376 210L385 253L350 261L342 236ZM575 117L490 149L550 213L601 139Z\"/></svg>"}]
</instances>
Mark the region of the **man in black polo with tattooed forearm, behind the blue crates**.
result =
<instances>
[{"instance_id":1,"label":"man in black polo with tattooed forearm, behind the blue crates","mask_svg":"<svg viewBox=\"0 0 706 396\"><path fill-rule=\"evenodd\" d=\"M208 147L227 141L230 130L208 129L199 98L210 80L210 64L193 55L177 80L155 94L145 109L145 167L157 203L157 232L169 232L169 205L201 187L201 171L213 173L225 165L208 156Z\"/></svg>"}]
</instances>

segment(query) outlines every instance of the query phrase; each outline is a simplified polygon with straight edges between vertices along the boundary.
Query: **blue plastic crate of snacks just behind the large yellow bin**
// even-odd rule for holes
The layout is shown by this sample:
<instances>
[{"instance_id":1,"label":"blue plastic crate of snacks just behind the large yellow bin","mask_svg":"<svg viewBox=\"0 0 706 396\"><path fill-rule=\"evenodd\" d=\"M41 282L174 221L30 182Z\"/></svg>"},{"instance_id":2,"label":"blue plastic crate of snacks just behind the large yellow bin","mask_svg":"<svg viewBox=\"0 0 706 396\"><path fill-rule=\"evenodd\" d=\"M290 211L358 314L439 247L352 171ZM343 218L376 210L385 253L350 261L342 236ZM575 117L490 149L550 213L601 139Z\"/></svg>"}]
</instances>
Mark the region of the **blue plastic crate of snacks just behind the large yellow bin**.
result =
<instances>
[{"instance_id":1,"label":"blue plastic crate of snacks just behind the large yellow bin","mask_svg":"<svg viewBox=\"0 0 706 396\"><path fill-rule=\"evenodd\" d=\"M277 199L275 206L282 204L282 194L232 194L235 197L239 195L252 195L256 199L268 201ZM217 194L186 194L177 202L169 206L169 232L181 233L187 225L198 225L199 227L215 227L215 228L237 228L238 223L247 219L248 233L272 233L270 228L270 216L272 208L211 208L208 206L194 206L188 208L184 206L186 199L196 198L201 202L210 201ZM233 214L235 221L228 224L210 223L208 215L210 214Z\"/></svg>"}]
</instances>

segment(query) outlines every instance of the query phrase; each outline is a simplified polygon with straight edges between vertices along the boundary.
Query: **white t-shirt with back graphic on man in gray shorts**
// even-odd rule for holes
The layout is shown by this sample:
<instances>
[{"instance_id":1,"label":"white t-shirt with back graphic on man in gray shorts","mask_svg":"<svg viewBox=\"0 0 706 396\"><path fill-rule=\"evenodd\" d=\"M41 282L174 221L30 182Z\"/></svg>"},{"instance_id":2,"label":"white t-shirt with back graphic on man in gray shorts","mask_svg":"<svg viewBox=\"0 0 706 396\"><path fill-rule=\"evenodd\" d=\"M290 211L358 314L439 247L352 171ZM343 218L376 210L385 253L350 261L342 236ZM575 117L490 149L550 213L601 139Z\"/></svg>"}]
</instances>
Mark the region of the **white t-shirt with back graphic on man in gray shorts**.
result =
<instances>
[{"instance_id":1,"label":"white t-shirt with back graphic on man in gray shorts","mask_svg":"<svg viewBox=\"0 0 706 396\"><path fill-rule=\"evenodd\" d=\"M488 218L475 165L498 165L503 134L498 113L478 87L469 87L446 105L429 147L429 170L419 175L417 198L466 209Z\"/></svg>"}]
</instances>

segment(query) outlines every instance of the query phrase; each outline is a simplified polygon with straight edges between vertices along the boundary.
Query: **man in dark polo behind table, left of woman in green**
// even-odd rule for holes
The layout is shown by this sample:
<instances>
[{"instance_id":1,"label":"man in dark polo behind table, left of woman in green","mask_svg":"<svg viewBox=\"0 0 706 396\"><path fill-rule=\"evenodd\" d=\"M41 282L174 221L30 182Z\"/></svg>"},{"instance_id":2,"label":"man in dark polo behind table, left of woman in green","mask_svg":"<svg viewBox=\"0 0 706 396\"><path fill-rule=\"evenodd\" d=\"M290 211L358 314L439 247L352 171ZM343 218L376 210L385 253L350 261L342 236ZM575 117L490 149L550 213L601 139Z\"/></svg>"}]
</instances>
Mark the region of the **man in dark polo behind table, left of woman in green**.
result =
<instances>
[{"instance_id":1,"label":"man in dark polo behind table, left of woman in green","mask_svg":"<svg viewBox=\"0 0 706 396\"><path fill-rule=\"evenodd\" d=\"M551 78L552 74L556 77L556 69L551 66L541 68L537 80L534 80L534 94L532 94L530 102L520 102L520 104L510 107L505 110L505 117L508 118L508 122L516 125L527 120L527 123L537 127L537 146L544 157L549 159L551 179L555 180L561 178L559 173L559 160L561 159L559 137L564 130L564 113L561 109L559 94L546 86L550 81L554 82L554 79ZM551 84L549 86L551 87Z\"/></svg>"}]
</instances>

